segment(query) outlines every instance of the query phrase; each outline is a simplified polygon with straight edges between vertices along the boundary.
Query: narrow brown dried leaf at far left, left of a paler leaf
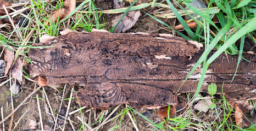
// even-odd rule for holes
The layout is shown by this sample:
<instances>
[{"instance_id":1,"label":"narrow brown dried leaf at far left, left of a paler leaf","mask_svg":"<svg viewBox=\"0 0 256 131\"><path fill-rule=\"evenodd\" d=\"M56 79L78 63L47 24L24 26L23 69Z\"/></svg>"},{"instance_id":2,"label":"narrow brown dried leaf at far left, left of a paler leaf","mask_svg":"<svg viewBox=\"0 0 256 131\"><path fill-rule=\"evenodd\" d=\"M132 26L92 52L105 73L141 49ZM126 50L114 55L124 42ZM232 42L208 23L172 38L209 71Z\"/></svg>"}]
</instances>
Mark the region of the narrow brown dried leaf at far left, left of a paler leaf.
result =
<instances>
[{"instance_id":1,"label":"narrow brown dried leaf at far left, left of a paler leaf","mask_svg":"<svg viewBox=\"0 0 256 131\"><path fill-rule=\"evenodd\" d=\"M10 68L12 67L13 61L14 61L14 52L10 51L9 49L4 49L4 61L6 62L4 75L7 75Z\"/></svg>"}]
</instances>

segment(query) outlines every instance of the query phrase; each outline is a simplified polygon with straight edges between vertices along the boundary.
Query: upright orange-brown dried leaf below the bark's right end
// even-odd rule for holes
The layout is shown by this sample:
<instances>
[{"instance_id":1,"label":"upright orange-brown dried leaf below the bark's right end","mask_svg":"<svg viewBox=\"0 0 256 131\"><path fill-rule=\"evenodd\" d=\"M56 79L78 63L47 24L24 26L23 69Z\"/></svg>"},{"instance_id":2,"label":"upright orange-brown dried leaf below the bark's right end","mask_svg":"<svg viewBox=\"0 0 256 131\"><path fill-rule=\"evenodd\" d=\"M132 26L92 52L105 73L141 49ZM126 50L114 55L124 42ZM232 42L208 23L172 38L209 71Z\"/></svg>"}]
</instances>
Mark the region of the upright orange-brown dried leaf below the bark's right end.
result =
<instances>
[{"instance_id":1,"label":"upright orange-brown dried leaf below the bark's right end","mask_svg":"<svg viewBox=\"0 0 256 131\"><path fill-rule=\"evenodd\" d=\"M238 124L238 127L243 126L243 114L244 111L242 109L242 106L240 104L235 104L235 120L236 120L236 124Z\"/></svg>"}]
</instances>

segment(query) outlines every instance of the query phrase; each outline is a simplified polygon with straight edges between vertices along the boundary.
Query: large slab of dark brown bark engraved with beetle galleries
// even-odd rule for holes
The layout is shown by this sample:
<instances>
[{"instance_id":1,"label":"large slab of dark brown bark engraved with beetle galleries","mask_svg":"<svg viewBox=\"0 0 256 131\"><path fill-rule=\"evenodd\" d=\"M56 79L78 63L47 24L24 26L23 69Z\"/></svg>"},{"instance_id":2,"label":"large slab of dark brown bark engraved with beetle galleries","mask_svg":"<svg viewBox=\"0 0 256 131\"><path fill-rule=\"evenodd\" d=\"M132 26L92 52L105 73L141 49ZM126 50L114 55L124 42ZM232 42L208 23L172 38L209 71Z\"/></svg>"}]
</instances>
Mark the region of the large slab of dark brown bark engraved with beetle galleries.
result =
<instances>
[{"instance_id":1,"label":"large slab of dark brown bark engraved with beetle galleries","mask_svg":"<svg viewBox=\"0 0 256 131\"><path fill-rule=\"evenodd\" d=\"M96 109L119 104L148 109L175 105L175 93L204 51L202 44L166 34L69 32L37 44L53 45L29 51L31 78L42 86L84 86L75 96L81 105ZM232 83L238 57L223 53L215 59L201 92L207 92L208 84L215 83L217 93L223 90L227 100L255 99L256 57L244 54L243 58L250 62L241 59ZM201 71L199 67L179 92L195 92Z\"/></svg>"}]
</instances>

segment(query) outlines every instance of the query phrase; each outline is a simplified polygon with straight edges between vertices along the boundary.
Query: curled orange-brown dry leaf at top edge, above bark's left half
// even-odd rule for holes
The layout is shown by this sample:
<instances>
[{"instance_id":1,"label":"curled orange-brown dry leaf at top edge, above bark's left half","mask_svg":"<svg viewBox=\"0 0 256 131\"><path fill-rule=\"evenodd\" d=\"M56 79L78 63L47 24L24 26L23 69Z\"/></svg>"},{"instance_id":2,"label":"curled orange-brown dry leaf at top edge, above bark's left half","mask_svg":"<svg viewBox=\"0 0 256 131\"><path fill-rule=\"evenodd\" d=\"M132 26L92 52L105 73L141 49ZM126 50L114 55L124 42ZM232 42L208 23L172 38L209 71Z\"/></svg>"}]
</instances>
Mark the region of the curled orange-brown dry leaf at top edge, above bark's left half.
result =
<instances>
[{"instance_id":1,"label":"curled orange-brown dry leaf at top edge, above bark's left half","mask_svg":"<svg viewBox=\"0 0 256 131\"><path fill-rule=\"evenodd\" d=\"M49 16L50 21L54 21L55 23L58 20L65 18L68 16L73 10L76 8L76 0L66 0L64 2L64 7L57 10L52 16ZM48 25L48 21L45 22Z\"/></svg>"}]
</instances>

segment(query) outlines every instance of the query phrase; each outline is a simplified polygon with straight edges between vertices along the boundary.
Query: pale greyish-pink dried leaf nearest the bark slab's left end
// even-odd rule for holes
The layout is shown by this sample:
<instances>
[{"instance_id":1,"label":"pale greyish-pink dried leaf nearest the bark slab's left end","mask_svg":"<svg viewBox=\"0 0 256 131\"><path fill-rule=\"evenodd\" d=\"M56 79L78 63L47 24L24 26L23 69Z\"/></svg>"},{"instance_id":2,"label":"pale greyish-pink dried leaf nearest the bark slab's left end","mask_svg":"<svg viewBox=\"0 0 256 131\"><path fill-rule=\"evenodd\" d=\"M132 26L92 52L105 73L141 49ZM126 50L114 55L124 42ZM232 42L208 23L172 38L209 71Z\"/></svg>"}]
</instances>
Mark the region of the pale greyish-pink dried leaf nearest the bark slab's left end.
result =
<instances>
[{"instance_id":1,"label":"pale greyish-pink dried leaf nearest the bark slab's left end","mask_svg":"<svg viewBox=\"0 0 256 131\"><path fill-rule=\"evenodd\" d=\"M22 82L22 67L23 63L21 61L21 58L18 57L13 65L12 70L10 70L13 78L17 79L19 82Z\"/></svg>"}]
</instances>

